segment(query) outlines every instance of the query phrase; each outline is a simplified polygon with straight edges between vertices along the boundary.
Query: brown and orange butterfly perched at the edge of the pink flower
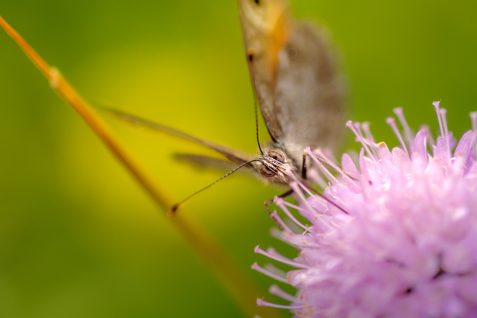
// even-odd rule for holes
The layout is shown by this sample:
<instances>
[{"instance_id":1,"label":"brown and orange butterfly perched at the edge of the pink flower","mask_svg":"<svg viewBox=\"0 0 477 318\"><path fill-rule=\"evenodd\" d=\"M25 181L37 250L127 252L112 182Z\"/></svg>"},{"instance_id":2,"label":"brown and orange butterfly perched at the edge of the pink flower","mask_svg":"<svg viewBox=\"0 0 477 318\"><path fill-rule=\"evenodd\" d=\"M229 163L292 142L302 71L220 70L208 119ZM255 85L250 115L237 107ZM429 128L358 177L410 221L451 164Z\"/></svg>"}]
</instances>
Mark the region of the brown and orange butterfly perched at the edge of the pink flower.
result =
<instances>
[{"instance_id":1,"label":"brown and orange butterfly perched at the edge of the pink flower","mask_svg":"<svg viewBox=\"0 0 477 318\"><path fill-rule=\"evenodd\" d=\"M203 144L239 166L211 185L247 166L270 183L288 185L285 171L307 178L307 146L332 149L344 129L344 90L329 36L323 28L296 21L284 0L239 0L239 17L250 78L270 135L258 156L182 133L127 113L110 110L122 119ZM187 202L188 196L171 212ZM281 196L290 195L289 190ZM266 206L271 201L266 202ZM268 208L267 208L268 211ZM270 211L269 211L270 213Z\"/></svg>"}]
</instances>

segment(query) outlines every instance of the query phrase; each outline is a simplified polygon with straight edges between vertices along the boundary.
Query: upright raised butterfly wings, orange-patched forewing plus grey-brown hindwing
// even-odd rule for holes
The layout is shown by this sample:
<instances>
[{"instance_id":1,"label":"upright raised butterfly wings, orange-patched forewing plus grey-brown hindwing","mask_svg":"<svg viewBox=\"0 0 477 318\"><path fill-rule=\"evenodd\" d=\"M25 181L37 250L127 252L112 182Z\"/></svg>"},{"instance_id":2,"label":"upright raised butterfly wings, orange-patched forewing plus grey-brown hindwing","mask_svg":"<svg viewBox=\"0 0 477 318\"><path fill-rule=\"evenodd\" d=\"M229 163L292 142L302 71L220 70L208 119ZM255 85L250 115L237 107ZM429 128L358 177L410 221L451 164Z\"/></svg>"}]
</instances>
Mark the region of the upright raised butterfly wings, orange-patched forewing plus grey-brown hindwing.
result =
<instances>
[{"instance_id":1,"label":"upright raised butterfly wings, orange-patched forewing plus grey-brown hindwing","mask_svg":"<svg viewBox=\"0 0 477 318\"><path fill-rule=\"evenodd\" d=\"M333 147L343 89L323 31L291 20L282 0L239 0L249 70L271 138L300 162L306 146Z\"/></svg>"}]
</instances>

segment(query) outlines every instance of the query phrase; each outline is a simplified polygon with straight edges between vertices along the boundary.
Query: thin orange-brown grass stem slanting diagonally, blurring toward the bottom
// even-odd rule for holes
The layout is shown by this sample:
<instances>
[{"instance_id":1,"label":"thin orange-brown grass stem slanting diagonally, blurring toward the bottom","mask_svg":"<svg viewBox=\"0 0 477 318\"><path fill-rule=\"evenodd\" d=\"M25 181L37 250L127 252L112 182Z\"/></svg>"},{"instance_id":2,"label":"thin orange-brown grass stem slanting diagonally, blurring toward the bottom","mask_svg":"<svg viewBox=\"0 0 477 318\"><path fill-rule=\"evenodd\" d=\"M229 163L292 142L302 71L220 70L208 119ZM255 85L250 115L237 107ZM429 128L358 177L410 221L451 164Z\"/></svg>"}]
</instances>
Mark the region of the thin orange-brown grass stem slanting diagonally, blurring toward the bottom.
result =
<instances>
[{"instance_id":1,"label":"thin orange-brown grass stem slanting diagonally, blurring toward the bottom","mask_svg":"<svg viewBox=\"0 0 477 318\"><path fill-rule=\"evenodd\" d=\"M156 204L163 211L168 211L172 205L169 202L169 195L165 189L160 188L156 182L149 177L133 158L126 148L119 142L112 129L93 110L93 108L83 100L73 86L62 76L55 67L50 66L41 56L31 48L31 46L0 16L0 25L17 42L33 64L48 79L52 89L57 92L76 112L90 125L93 131L113 152L116 158L124 164L127 170L140 185L153 197ZM184 239L192 246L193 250L201 256L208 268L213 271L221 283L226 287L230 295L239 304L240 308L249 317L259 314L262 317L283 317L281 311L274 308L257 307L256 298L264 295L249 277L236 266L235 262L228 257L206 233L184 213L170 218L176 229ZM211 299L213 301L213 299Z\"/></svg>"}]
</instances>

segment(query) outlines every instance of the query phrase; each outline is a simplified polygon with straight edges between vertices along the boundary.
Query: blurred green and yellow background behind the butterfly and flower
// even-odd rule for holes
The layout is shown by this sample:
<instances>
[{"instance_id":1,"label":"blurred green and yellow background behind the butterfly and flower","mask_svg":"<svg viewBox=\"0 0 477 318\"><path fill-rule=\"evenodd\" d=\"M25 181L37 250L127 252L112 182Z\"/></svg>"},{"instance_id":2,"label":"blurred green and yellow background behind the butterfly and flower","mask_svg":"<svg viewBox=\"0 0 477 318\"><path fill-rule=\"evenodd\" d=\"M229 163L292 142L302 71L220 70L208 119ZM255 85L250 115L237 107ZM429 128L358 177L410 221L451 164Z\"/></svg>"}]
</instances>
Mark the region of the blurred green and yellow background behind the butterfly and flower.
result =
<instances>
[{"instance_id":1,"label":"blurred green and yellow background behind the butterfly and flower","mask_svg":"<svg viewBox=\"0 0 477 318\"><path fill-rule=\"evenodd\" d=\"M476 7L470 0L292 1L296 16L332 31L348 74L351 117L370 121L376 139L390 146L397 141L384 119L396 106L413 128L429 123L436 131L431 103L442 99L450 129L460 136L470 128ZM255 152L235 0L16 0L2 2L0 14L87 100ZM241 317L152 200L4 32L0 121L0 317ZM207 149L108 121L174 200L222 174L172 157L213 154ZM273 281L249 269L266 262L253 247L296 253L268 234L262 203L279 191L239 174L184 212L264 288Z\"/></svg>"}]
</instances>

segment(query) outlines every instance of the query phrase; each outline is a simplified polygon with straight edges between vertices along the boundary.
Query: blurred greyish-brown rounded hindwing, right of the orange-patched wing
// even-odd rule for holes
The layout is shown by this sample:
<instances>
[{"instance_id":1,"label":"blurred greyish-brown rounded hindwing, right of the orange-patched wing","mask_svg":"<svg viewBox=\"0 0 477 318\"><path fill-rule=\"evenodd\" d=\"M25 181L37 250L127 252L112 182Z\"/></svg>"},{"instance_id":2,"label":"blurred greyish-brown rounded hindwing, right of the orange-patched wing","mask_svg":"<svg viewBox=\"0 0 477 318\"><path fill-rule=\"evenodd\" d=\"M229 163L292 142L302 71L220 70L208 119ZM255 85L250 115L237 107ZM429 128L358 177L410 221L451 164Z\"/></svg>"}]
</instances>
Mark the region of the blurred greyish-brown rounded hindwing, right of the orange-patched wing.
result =
<instances>
[{"instance_id":1,"label":"blurred greyish-brown rounded hindwing, right of the orange-patched wing","mask_svg":"<svg viewBox=\"0 0 477 318\"><path fill-rule=\"evenodd\" d=\"M307 146L336 148L344 131L343 80L328 38L314 25L293 23L279 52L275 116L295 158Z\"/></svg>"}]
</instances>

